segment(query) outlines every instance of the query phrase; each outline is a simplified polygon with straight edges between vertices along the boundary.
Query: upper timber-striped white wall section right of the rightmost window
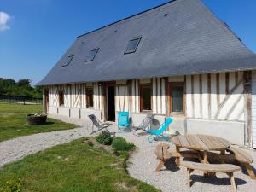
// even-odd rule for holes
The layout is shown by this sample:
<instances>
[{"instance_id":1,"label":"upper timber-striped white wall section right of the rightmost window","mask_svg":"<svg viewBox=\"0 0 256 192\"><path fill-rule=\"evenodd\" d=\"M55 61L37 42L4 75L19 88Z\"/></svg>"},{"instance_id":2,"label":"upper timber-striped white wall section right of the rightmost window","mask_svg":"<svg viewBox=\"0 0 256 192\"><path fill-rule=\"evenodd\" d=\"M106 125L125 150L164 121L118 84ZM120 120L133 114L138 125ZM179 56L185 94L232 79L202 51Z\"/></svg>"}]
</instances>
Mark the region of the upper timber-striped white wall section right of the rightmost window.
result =
<instances>
[{"instance_id":1,"label":"upper timber-striped white wall section right of the rightmost window","mask_svg":"<svg viewBox=\"0 0 256 192\"><path fill-rule=\"evenodd\" d=\"M188 118L244 121L243 73L186 76Z\"/></svg>"}]
</instances>

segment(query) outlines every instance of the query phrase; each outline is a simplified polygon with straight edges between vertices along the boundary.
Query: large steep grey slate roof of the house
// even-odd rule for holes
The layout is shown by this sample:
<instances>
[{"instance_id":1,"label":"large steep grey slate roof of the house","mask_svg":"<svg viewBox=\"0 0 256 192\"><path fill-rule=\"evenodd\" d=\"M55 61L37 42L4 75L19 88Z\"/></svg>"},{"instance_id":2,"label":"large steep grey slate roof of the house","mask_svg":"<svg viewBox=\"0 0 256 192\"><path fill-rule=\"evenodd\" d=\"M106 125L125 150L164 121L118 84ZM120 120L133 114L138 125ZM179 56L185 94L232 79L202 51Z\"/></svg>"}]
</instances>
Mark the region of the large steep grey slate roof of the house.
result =
<instances>
[{"instance_id":1,"label":"large steep grey slate roof of the house","mask_svg":"<svg viewBox=\"0 0 256 192\"><path fill-rule=\"evenodd\" d=\"M137 36L137 51L124 55ZM96 48L95 59L85 62ZM248 69L256 69L256 55L223 21L201 0L176 0L79 36L38 85Z\"/></svg>"}]
</instances>

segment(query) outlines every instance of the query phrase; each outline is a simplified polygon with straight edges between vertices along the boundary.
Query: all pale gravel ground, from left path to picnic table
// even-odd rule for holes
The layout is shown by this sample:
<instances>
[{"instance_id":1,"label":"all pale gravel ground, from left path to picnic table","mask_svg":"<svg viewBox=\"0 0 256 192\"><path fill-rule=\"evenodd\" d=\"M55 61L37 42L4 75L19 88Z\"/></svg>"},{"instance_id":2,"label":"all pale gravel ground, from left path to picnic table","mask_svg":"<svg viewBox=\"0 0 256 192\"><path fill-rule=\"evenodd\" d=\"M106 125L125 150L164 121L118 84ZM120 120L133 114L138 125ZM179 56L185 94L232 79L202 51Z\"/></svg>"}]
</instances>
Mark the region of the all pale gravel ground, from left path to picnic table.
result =
<instances>
[{"instance_id":1,"label":"all pale gravel ground, from left path to picnic table","mask_svg":"<svg viewBox=\"0 0 256 192\"><path fill-rule=\"evenodd\" d=\"M0 143L0 167L14 160L19 160L28 154L34 154L44 148L49 148L61 143L68 143L79 137L89 136L90 122L79 119L68 119L67 117L53 116L52 118L61 119L66 122L82 125L81 128L39 133L27 137L15 138ZM114 126L109 131L116 131ZM161 172L154 172L159 163L154 154L155 146L160 143L148 143L148 135L136 137L131 133L117 133L116 136L125 137L128 141L137 146L136 152L131 155L129 160L128 172L131 177L135 177L145 183L154 185L163 192L170 191L231 191L230 179L223 173L218 173L217 177L202 177L202 172L193 172L193 184L190 189L186 185L186 171L184 168L175 166L173 160L166 164L166 168ZM174 149L172 143L169 143ZM256 167L256 151L247 150L253 156L253 166ZM250 179L247 174L235 172L237 191L256 191L256 181Z\"/></svg>"}]
</instances>

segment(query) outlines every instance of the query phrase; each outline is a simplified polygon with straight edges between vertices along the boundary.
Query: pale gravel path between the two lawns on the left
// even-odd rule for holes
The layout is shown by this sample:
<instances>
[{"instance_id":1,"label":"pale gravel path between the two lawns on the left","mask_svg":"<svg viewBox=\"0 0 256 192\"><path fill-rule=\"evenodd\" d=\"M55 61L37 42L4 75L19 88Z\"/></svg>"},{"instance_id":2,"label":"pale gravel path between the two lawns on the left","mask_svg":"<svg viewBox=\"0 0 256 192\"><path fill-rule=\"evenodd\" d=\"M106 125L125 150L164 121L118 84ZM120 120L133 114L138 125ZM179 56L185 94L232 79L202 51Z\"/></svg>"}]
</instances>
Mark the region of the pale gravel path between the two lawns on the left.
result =
<instances>
[{"instance_id":1,"label":"pale gravel path between the two lawns on the left","mask_svg":"<svg viewBox=\"0 0 256 192\"><path fill-rule=\"evenodd\" d=\"M89 136L90 127L88 127L88 123L86 124L84 121L78 122L67 118L65 121L69 123L77 123L82 127L65 131L38 133L1 142L0 167L15 160L20 160L28 154L35 154L45 148L50 148L61 143L68 143L79 137Z\"/></svg>"}]
</instances>

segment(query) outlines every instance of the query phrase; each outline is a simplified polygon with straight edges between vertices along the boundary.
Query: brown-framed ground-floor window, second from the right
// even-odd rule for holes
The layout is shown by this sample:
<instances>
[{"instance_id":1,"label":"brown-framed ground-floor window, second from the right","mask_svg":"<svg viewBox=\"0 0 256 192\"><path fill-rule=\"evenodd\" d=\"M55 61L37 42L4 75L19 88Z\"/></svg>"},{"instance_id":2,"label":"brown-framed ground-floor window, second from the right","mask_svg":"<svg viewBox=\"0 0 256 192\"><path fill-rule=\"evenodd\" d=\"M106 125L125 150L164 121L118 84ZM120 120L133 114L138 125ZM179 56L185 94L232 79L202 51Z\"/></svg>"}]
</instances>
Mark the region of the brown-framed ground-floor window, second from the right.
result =
<instances>
[{"instance_id":1,"label":"brown-framed ground-floor window, second from the right","mask_svg":"<svg viewBox=\"0 0 256 192\"><path fill-rule=\"evenodd\" d=\"M141 84L140 105L142 112L151 110L151 84Z\"/></svg>"}]
</instances>

